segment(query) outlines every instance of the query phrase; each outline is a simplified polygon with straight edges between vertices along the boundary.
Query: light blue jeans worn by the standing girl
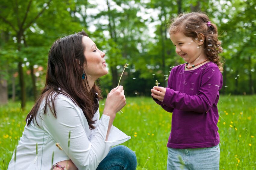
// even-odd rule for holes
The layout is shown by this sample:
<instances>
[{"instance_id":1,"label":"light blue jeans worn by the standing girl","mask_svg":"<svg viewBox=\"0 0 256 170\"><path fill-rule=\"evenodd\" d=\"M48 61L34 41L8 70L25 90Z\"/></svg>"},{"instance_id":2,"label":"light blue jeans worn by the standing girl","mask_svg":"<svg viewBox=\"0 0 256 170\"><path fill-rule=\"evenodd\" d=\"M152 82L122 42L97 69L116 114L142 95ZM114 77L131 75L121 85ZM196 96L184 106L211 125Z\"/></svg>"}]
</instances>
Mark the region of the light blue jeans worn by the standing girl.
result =
<instances>
[{"instance_id":1,"label":"light blue jeans worn by the standing girl","mask_svg":"<svg viewBox=\"0 0 256 170\"><path fill-rule=\"evenodd\" d=\"M167 170L219 170L219 144L208 148L173 149L168 148Z\"/></svg>"}]
</instances>

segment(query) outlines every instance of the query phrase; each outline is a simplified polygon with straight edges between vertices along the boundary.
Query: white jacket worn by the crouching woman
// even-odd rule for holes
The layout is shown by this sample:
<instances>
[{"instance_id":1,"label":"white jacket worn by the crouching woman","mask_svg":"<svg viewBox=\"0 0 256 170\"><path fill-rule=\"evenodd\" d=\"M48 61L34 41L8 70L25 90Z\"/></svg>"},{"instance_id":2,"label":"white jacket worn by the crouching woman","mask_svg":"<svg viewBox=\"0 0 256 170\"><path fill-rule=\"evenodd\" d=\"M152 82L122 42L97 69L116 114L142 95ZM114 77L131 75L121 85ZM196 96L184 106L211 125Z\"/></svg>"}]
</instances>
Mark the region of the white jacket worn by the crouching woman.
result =
<instances>
[{"instance_id":1,"label":"white jacket worn by the crouching woman","mask_svg":"<svg viewBox=\"0 0 256 170\"><path fill-rule=\"evenodd\" d=\"M39 126L35 121L25 126L17 146L16 162L14 151L8 170L50 170L53 152L53 164L71 159L79 170L96 169L112 146L131 139L112 126L108 141L105 141L110 117L102 115L100 118L98 109L93 117L93 120L96 120L93 124L96 128L90 130L82 110L67 96L59 94L55 99L57 118L53 116L49 105L43 115L44 105L42 102L36 115ZM71 136L68 147L69 131ZM59 143L63 150L59 150L55 143Z\"/></svg>"}]
</instances>

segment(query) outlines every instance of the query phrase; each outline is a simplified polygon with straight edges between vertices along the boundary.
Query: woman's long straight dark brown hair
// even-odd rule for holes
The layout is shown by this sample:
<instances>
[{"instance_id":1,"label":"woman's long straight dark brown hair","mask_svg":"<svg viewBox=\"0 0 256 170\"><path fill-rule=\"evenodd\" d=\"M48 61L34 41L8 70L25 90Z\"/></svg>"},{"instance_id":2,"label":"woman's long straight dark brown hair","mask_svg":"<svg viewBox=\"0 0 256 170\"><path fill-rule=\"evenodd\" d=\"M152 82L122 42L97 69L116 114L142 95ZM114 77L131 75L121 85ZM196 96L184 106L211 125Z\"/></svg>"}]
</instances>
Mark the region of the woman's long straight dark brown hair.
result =
<instances>
[{"instance_id":1,"label":"woman's long straight dark brown hair","mask_svg":"<svg viewBox=\"0 0 256 170\"><path fill-rule=\"evenodd\" d=\"M46 114L47 105L49 105L52 114L57 118L54 102L58 94L62 94L68 96L82 109L90 129L95 128L92 119L99 107L98 100L102 97L101 90L95 83L89 90L86 74L85 78L82 78L84 64L87 64L84 56L85 46L82 43L83 36L88 35L81 31L57 39L53 43L48 55L45 87L27 115L27 125L33 119L36 121L36 114L43 100L45 100L43 114Z\"/></svg>"}]
</instances>

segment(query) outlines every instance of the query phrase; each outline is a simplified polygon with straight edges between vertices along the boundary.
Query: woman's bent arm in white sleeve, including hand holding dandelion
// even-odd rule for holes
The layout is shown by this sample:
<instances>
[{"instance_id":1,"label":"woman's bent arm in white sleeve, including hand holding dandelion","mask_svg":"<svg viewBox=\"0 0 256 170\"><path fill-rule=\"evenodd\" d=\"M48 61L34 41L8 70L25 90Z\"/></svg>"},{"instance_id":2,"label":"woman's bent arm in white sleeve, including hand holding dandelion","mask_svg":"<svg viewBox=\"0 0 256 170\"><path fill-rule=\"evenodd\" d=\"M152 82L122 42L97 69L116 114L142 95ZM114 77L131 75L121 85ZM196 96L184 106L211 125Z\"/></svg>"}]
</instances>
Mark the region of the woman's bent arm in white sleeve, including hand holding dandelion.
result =
<instances>
[{"instance_id":1,"label":"woman's bent arm in white sleeve, including hand holding dandelion","mask_svg":"<svg viewBox=\"0 0 256 170\"><path fill-rule=\"evenodd\" d=\"M47 108L47 114L43 115L43 128L51 137L60 144L63 151L78 169L96 169L99 163L108 154L111 144L106 144L107 131L112 126L115 113L125 105L123 87L113 89L108 99L104 114L94 129L90 141L84 131L81 115L77 107L70 100L58 98L55 100L57 118ZM115 104L114 104L115 103ZM110 122L110 118L112 121ZM70 146L68 147L68 136L70 135Z\"/></svg>"}]
</instances>

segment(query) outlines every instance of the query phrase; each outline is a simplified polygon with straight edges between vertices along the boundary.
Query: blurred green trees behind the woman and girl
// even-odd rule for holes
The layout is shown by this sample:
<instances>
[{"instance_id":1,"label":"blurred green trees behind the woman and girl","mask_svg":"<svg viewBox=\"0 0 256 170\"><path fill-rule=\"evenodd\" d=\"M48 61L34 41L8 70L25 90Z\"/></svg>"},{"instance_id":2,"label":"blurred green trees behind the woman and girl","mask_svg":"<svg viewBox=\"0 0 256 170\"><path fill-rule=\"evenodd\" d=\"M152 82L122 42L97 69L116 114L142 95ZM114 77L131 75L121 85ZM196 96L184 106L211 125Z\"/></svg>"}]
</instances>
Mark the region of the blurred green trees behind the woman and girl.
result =
<instances>
[{"instance_id":1,"label":"blurred green trees behind the woman and girl","mask_svg":"<svg viewBox=\"0 0 256 170\"><path fill-rule=\"evenodd\" d=\"M206 12L218 26L225 60L222 94L254 94L256 1L253 0L1 0L0 101L33 101L44 86L50 46L85 30L106 53L103 94L121 84L126 96L150 96L184 63L169 39L168 21L181 12Z\"/></svg>"}]
</instances>

